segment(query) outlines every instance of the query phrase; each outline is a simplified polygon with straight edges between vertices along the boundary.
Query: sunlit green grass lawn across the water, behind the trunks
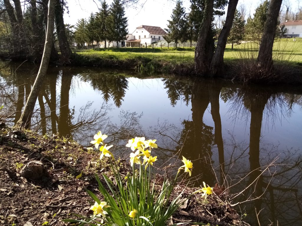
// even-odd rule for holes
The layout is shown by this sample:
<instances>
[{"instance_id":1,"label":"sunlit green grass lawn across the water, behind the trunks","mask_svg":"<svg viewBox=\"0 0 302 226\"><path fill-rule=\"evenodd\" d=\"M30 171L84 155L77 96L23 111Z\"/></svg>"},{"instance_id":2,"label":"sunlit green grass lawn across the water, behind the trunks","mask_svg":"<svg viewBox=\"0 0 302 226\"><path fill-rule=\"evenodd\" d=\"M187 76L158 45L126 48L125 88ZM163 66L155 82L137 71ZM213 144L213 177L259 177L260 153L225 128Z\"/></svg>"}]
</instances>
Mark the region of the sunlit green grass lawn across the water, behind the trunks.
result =
<instances>
[{"instance_id":1,"label":"sunlit green grass lawn across the water, behind the trunks","mask_svg":"<svg viewBox=\"0 0 302 226\"><path fill-rule=\"evenodd\" d=\"M226 45L224 59L232 61L240 58L256 58L258 54L258 45L252 42L234 45ZM157 62L169 62L170 64L194 63L194 48L110 48L110 49L91 49L77 51L79 55L85 58L99 58L110 60L133 60L147 59ZM273 57L275 60L292 62L302 62L302 38L279 39L274 43Z\"/></svg>"}]
</instances>

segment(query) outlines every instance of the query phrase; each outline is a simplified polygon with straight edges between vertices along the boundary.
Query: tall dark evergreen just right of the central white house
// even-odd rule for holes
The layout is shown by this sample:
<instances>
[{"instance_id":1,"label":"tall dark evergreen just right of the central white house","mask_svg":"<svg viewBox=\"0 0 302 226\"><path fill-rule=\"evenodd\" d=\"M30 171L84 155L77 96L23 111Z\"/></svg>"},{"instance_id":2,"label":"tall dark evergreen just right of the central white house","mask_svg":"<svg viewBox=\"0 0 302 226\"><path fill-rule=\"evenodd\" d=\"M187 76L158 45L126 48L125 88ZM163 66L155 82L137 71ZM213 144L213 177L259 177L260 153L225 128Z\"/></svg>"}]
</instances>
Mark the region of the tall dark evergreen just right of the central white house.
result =
<instances>
[{"instance_id":1,"label":"tall dark evergreen just right of the central white house","mask_svg":"<svg viewBox=\"0 0 302 226\"><path fill-rule=\"evenodd\" d=\"M182 1L178 0L176 2L175 9L172 11L171 15L172 20L168 20L168 29L166 31L174 39L177 44L180 40L185 42L188 40L187 27L188 22L186 20L185 8L182 7Z\"/></svg>"}]
</instances>

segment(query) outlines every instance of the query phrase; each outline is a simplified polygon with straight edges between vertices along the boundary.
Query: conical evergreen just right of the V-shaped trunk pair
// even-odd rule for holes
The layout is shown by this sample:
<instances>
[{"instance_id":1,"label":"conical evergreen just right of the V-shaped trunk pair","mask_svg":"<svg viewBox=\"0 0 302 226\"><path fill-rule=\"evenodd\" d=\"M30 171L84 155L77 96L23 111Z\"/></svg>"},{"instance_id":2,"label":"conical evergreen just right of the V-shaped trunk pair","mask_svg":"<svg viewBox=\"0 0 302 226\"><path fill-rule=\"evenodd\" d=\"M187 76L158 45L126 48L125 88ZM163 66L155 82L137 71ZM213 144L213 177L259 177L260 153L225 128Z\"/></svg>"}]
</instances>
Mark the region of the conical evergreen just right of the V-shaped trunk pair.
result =
<instances>
[{"instance_id":1,"label":"conical evergreen just right of the V-shaped trunk pair","mask_svg":"<svg viewBox=\"0 0 302 226\"><path fill-rule=\"evenodd\" d=\"M241 13L238 10L236 10L235 17L233 20L233 25L230 30L230 34L228 36L228 42L232 43L232 49L234 43L238 43L240 40L243 39L244 24L245 24L245 20L242 20Z\"/></svg>"}]
</instances>

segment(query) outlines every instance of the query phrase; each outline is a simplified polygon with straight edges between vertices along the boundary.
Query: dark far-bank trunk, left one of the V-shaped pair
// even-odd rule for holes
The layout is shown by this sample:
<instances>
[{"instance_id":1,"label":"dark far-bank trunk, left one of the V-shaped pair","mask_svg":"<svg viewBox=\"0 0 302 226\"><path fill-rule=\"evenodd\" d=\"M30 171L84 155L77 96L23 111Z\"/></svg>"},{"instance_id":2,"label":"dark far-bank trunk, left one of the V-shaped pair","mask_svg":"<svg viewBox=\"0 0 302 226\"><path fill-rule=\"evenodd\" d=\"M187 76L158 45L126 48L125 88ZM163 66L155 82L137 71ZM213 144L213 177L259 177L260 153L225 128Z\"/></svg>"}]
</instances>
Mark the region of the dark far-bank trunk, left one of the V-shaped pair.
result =
<instances>
[{"instance_id":1,"label":"dark far-bank trunk, left one of the V-shaped pair","mask_svg":"<svg viewBox=\"0 0 302 226\"><path fill-rule=\"evenodd\" d=\"M202 24L198 39L195 48L195 71L197 75L204 75L207 72L207 52L206 52L206 43L207 43L207 36L208 32L211 27L212 17L213 17L213 4L214 0L208 0L207 9L206 9L206 16L204 23Z\"/></svg>"}]
</instances>

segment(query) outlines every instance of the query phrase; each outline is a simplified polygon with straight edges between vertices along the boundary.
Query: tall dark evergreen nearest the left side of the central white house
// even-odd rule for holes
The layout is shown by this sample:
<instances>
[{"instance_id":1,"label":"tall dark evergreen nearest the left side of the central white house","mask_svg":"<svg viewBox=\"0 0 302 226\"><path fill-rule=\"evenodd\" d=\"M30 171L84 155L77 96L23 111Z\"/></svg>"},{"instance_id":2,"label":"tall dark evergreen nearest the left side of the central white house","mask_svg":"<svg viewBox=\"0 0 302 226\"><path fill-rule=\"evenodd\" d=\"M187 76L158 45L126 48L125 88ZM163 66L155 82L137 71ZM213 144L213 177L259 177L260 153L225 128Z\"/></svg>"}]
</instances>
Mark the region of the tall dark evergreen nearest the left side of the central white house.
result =
<instances>
[{"instance_id":1,"label":"tall dark evergreen nearest the left side of the central white house","mask_svg":"<svg viewBox=\"0 0 302 226\"><path fill-rule=\"evenodd\" d=\"M113 0L109 15L106 19L106 27L108 31L108 41L118 42L126 39L128 34L128 19L125 17L125 9L120 0Z\"/></svg>"}]
</instances>

